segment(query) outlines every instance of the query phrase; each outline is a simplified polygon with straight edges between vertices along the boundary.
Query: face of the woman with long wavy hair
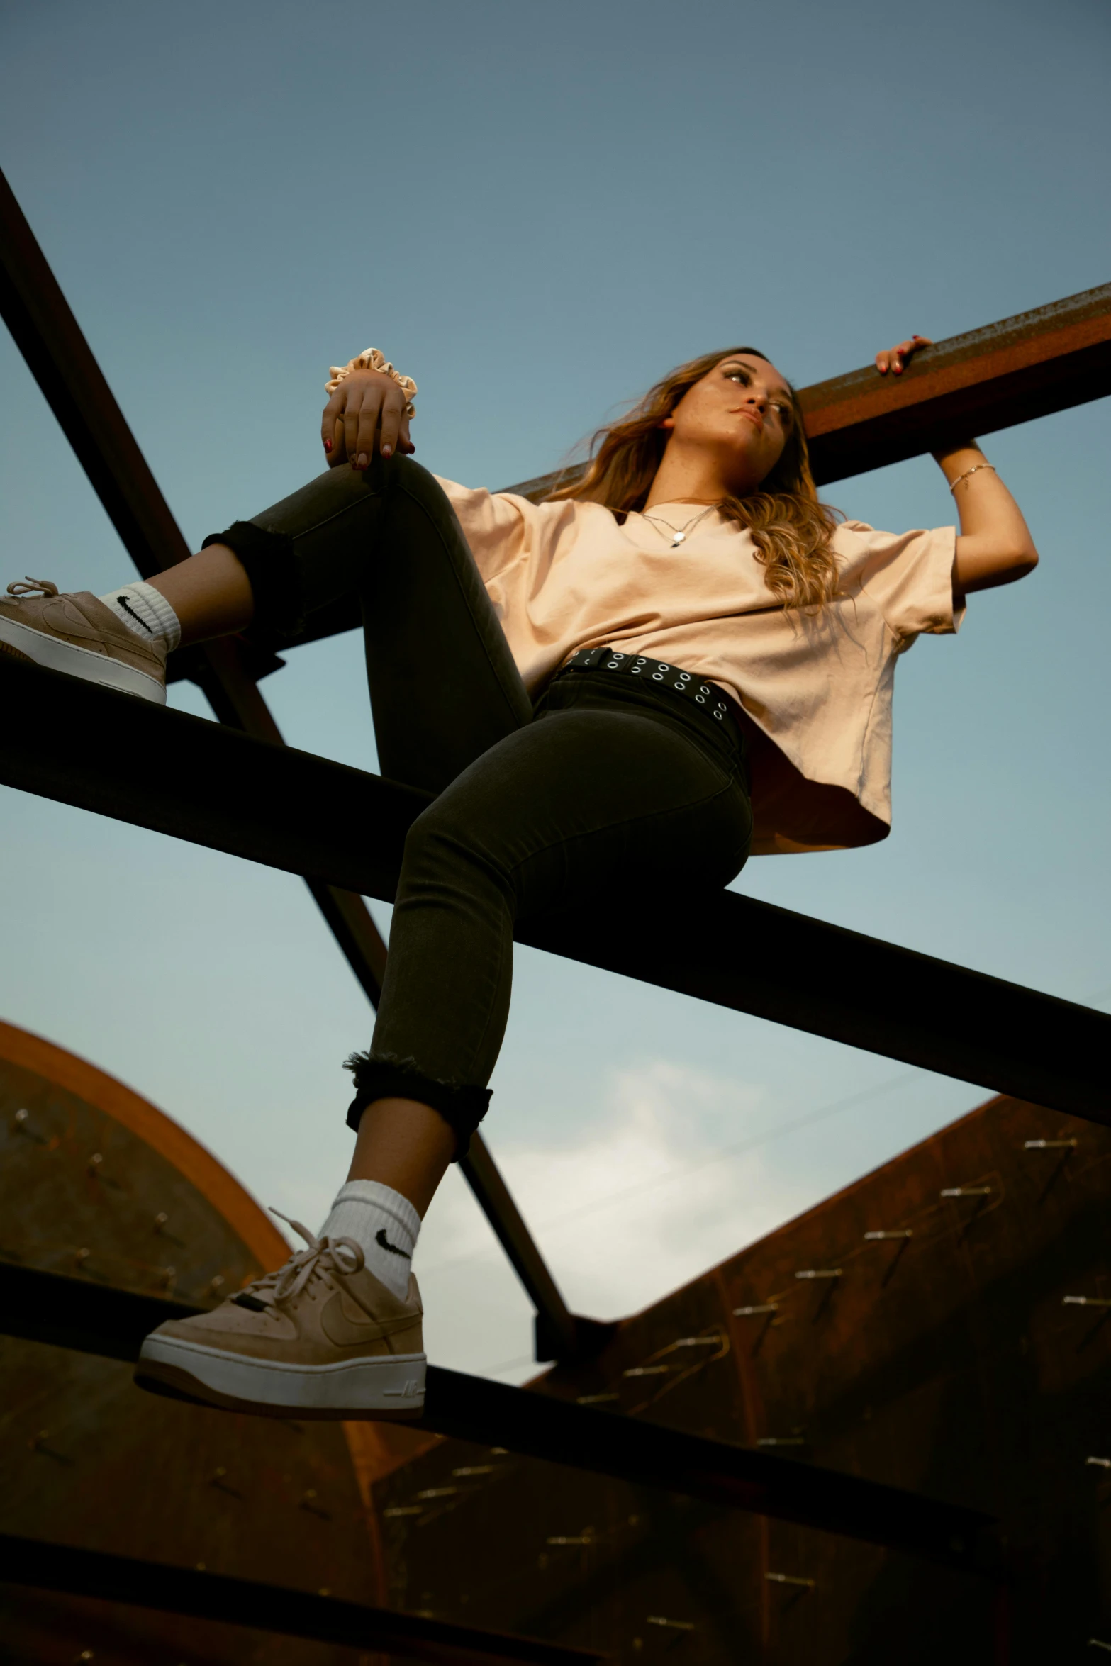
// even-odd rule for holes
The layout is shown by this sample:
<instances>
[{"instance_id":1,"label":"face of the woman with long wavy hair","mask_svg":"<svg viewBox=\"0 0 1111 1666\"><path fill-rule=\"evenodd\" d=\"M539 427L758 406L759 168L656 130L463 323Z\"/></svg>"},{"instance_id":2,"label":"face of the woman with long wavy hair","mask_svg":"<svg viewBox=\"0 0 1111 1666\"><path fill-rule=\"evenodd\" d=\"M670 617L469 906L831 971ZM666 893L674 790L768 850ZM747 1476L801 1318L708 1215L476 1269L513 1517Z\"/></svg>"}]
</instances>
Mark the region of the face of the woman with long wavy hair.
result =
<instances>
[{"instance_id":1,"label":"face of the woman with long wavy hair","mask_svg":"<svg viewBox=\"0 0 1111 1666\"><path fill-rule=\"evenodd\" d=\"M766 358L730 353L688 388L661 426L668 448L706 446L740 496L755 491L780 461L795 423L786 382Z\"/></svg>"}]
</instances>

